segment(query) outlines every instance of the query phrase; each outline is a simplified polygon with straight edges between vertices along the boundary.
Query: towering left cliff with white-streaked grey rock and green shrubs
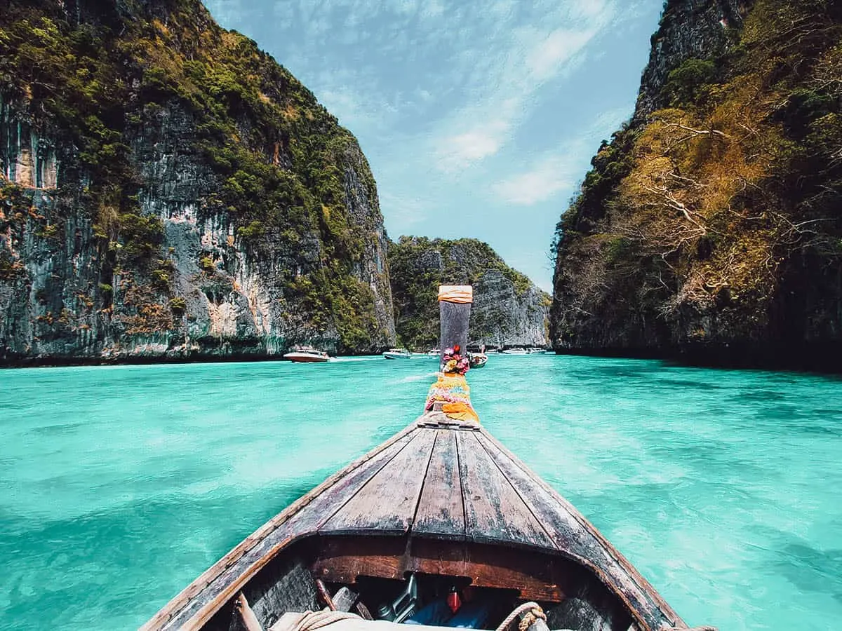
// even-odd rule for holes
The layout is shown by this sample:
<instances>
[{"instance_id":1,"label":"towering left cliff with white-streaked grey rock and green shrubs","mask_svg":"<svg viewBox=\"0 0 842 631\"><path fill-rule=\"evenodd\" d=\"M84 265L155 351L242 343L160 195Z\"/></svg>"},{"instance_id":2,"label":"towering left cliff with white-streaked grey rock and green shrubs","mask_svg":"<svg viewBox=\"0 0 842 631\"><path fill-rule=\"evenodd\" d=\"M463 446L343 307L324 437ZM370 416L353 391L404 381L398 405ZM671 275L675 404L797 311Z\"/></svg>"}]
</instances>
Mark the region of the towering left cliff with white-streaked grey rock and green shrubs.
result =
<instances>
[{"instance_id":1,"label":"towering left cliff with white-streaked grey rock and green shrubs","mask_svg":"<svg viewBox=\"0 0 842 631\"><path fill-rule=\"evenodd\" d=\"M354 137L198 0L0 13L0 363L394 342Z\"/></svg>"}]
</instances>

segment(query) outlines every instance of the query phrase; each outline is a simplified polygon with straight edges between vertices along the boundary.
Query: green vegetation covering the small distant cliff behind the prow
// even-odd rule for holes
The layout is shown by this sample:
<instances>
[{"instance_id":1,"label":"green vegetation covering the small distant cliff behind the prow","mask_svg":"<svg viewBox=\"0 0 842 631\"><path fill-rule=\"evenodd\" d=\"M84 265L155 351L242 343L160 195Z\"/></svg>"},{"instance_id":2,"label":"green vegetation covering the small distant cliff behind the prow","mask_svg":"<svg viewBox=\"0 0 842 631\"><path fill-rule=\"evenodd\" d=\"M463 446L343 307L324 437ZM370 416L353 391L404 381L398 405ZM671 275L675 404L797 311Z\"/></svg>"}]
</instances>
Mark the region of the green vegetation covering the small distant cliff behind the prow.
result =
<instances>
[{"instance_id":1,"label":"green vegetation covering the small distant cliff behind the prow","mask_svg":"<svg viewBox=\"0 0 842 631\"><path fill-rule=\"evenodd\" d=\"M428 239L402 236L389 244L389 274L392 280L392 301L395 308L395 329L398 339L415 350L435 347L439 342L438 294L441 284L474 285L475 304L471 315L471 339L510 334L513 315L505 305L483 305L482 294L489 273L499 274L511 289L511 298L523 303L535 301L541 310L537 328L543 343L543 327L548 296L536 289L529 278L508 265L487 243L476 239ZM524 309L525 310L525 309ZM533 318L536 315L532 316Z\"/></svg>"}]
</instances>

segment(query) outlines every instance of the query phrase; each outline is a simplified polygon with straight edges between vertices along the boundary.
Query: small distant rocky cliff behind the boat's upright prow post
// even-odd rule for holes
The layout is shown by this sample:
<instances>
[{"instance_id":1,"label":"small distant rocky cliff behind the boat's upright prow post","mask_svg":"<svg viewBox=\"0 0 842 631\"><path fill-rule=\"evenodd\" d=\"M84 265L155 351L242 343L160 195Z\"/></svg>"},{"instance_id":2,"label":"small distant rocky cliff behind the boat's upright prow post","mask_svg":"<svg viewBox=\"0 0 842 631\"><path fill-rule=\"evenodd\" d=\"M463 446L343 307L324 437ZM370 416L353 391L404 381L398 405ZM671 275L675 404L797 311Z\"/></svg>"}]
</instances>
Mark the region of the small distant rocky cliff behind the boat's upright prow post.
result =
<instances>
[{"instance_id":1,"label":"small distant rocky cliff behind the boat's upright prow post","mask_svg":"<svg viewBox=\"0 0 842 631\"><path fill-rule=\"evenodd\" d=\"M423 351L439 343L440 284L473 285L469 339L488 347L539 346L549 296L509 268L486 243L402 236L389 247L397 335Z\"/></svg>"}]
</instances>

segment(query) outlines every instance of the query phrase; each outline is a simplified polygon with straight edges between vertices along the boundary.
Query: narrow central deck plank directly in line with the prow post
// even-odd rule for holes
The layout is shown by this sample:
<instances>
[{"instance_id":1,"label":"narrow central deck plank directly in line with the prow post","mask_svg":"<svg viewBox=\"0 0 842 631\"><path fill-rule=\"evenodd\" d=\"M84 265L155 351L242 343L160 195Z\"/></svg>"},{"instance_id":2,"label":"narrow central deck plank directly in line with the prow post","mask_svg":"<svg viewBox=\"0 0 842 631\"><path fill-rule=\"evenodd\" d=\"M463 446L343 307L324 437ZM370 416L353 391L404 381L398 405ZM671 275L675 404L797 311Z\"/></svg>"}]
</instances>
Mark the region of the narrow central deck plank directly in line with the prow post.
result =
<instances>
[{"instance_id":1,"label":"narrow central deck plank directly in line with the prow post","mask_svg":"<svg viewBox=\"0 0 842 631\"><path fill-rule=\"evenodd\" d=\"M437 432L415 512L413 533L437 538L465 538L465 506L462 504L456 433L450 429Z\"/></svg>"}]
</instances>

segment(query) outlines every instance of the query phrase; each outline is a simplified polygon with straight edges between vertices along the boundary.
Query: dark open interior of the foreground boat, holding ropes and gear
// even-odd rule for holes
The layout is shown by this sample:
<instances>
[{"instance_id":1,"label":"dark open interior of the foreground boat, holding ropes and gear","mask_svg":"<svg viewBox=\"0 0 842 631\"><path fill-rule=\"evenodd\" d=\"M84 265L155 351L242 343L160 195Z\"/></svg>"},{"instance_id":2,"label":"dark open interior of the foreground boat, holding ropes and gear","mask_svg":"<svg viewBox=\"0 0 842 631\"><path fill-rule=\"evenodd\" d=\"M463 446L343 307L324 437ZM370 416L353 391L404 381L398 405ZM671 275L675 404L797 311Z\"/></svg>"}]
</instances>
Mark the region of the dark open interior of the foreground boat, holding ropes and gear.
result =
<instances>
[{"instance_id":1,"label":"dark open interior of the foreground boat, holding ropes and gear","mask_svg":"<svg viewBox=\"0 0 842 631\"><path fill-rule=\"evenodd\" d=\"M495 629L524 602L538 603L551 629L640 628L621 599L571 559L412 537L306 538L265 565L242 587L242 596L261 628L274 631L293 631L301 618L284 614L322 609L359 617L339 621L336 631L384 631L382 621ZM239 592L204 628L249 630L237 597ZM366 622L372 619L378 622Z\"/></svg>"}]
</instances>

